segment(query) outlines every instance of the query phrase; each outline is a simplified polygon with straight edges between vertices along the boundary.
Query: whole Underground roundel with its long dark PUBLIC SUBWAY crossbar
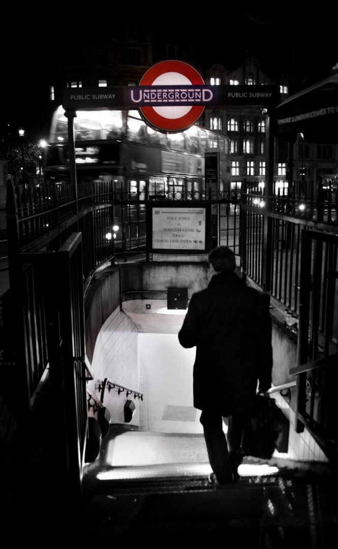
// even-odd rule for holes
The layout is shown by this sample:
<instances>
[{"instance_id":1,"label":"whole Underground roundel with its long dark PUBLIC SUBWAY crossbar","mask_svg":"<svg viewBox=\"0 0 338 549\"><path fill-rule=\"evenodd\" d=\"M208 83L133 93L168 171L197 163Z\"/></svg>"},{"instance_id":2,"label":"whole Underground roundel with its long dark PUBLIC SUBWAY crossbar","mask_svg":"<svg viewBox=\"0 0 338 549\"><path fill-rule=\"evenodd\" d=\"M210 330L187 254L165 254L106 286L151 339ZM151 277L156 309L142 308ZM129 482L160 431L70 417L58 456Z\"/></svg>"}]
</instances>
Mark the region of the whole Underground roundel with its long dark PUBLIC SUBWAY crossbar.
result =
<instances>
[{"instance_id":1,"label":"whole Underground roundel with its long dark PUBLIC SUBWAY crossbar","mask_svg":"<svg viewBox=\"0 0 338 549\"><path fill-rule=\"evenodd\" d=\"M67 89L64 109L138 109L148 125L177 132L195 124L205 107L262 105L275 107L279 86L208 86L196 69L183 61L156 63L139 86Z\"/></svg>"}]
</instances>

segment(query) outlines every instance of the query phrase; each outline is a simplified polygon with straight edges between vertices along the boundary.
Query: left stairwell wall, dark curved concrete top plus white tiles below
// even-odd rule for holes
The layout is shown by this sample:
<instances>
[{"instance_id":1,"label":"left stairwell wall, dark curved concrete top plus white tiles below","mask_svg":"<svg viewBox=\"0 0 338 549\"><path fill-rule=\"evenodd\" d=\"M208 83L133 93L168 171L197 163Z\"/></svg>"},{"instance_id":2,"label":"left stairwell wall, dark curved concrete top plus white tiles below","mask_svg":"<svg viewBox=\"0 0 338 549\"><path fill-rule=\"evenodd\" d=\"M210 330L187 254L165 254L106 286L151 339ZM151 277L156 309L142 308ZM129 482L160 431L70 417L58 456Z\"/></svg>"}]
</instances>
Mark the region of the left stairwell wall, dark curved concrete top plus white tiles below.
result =
<instances>
[{"instance_id":1,"label":"left stairwell wall, dark curved concrete top plus white tiles below","mask_svg":"<svg viewBox=\"0 0 338 549\"><path fill-rule=\"evenodd\" d=\"M120 310L120 271L106 268L95 275L85 295L86 355L93 380L88 388L100 399L99 384L105 378L112 383L139 390L139 365L135 324ZM125 424L124 406L135 404L130 425L139 424L139 400L126 391L119 394L117 386L105 390L103 405L110 413L110 423Z\"/></svg>"}]
</instances>

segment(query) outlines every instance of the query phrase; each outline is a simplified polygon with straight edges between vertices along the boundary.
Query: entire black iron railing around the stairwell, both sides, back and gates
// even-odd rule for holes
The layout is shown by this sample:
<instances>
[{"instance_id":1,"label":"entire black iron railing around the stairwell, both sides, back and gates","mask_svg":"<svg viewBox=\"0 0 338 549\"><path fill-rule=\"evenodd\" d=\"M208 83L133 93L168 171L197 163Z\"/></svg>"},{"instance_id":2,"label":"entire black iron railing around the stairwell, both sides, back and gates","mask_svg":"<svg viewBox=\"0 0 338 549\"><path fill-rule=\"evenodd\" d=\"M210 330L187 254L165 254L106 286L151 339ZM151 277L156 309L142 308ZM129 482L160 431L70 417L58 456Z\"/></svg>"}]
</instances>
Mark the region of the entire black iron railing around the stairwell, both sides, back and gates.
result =
<instances>
[{"instance_id":1,"label":"entire black iron railing around the stairwell, both sides, back and gates","mask_svg":"<svg viewBox=\"0 0 338 549\"><path fill-rule=\"evenodd\" d=\"M139 253L144 250L146 207L154 200L161 203L164 200L183 203L184 200L186 204L187 195L174 193L164 197L162 193L153 193L150 197L145 193L140 196L129 191L117 191L112 182L84 182L76 188L71 183L41 184L38 187L8 183L10 285L14 292L18 289L13 316L19 318L23 313L17 336L23 345L18 351L20 357L17 365L24 379L22 402L26 410L34 406L42 384L50 377L49 372L52 374L53 361L58 364L65 360L60 355L59 345L61 340L64 341L68 366L61 378L54 378L54 402L58 396L63 399L59 389L67 378L67 384L70 384L66 395L68 404L63 408L63 414L64 417L70 414L72 419L69 424L64 423L64 429L73 442L75 438L77 440L76 446L70 444L70 447L74 458L72 467L78 474L81 472L87 413L82 312L84 284L95 268L113 256L119 257L121 253L126 259L133 251ZM219 243L229 245L236 253L239 251L245 275L279 300L291 315L296 315L295 324L297 326L299 321L302 333L306 330L306 343L303 344L306 351L302 351L302 362L298 366L306 369L305 363L315 358L313 349L316 345L320 348L323 344L325 356L330 357L331 347L335 348L337 343L337 309L333 301L338 225L333 196L318 192L305 195L303 187L294 184L288 194L282 194L278 189L269 201L271 208L268 210L261 187L256 182L244 181L241 193L237 188L218 195L214 191L211 194L208 192L207 196L190 193L189 200L195 204L203 202L212 209L215 219L218 218ZM115 225L119 229L113 234ZM298 319L298 315L302 306L300 292L305 268L303 234L314 230L330 235L331 240L326 243L324 239L322 248L319 244L313 244L311 250L308 248L312 283L316 291L309 290L311 309L308 317L302 320L301 315ZM78 236L75 236L80 233L81 246ZM50 265L56 261L54 257L59 258L59 266L51 270ZM48 269L42 266L43 261L49 265ZM61 278L55 278L55 273L59 273ZM63 297L59 304L55 304L50 301L50 288L61 285ZM50 311L54 311L52 324ZM50 336L51 325L55 330L53 338ZM60 335L61 326L66 330L63 337ZM59 343L55 343L57 341ZM57 371L59 369L55 366L54 376ZM323 379L324 384L325 376ZM320 440L325 440L327 426L321 423L318 423L319 427L317 423L315 425L311 408L311 421L304 419L302 403L306 399L306 386L304 388L303 382L297 384L298 402L301 403L298 418L309 430L315 432L320 429ZM322 394L328 393L323 390ZM63 458L67 462L69 456Z\"/></svg>"}]
</instances>

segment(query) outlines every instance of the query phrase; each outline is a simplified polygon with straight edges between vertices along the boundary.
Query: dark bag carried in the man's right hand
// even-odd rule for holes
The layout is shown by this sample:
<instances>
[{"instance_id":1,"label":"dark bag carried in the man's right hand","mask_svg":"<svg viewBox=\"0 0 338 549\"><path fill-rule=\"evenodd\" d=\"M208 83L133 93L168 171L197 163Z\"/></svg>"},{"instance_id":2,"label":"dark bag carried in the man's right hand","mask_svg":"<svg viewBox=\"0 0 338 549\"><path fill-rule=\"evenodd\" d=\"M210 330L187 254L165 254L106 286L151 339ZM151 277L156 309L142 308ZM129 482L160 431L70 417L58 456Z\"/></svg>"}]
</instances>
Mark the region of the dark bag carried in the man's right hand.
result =
<instances>
[{"instance_id":1,"label":"dark bag carried in the man's right hand","mask_svg":"<svg viewBox=\"0 0 338 549\"><path fill-rule=\"evenodd\" d=\"M288 439L289 421L274 399L268 395L256 395L255 412L243 433L243 455L269 460L274 450L288 451Z\"/></svg>"}]
</instances>

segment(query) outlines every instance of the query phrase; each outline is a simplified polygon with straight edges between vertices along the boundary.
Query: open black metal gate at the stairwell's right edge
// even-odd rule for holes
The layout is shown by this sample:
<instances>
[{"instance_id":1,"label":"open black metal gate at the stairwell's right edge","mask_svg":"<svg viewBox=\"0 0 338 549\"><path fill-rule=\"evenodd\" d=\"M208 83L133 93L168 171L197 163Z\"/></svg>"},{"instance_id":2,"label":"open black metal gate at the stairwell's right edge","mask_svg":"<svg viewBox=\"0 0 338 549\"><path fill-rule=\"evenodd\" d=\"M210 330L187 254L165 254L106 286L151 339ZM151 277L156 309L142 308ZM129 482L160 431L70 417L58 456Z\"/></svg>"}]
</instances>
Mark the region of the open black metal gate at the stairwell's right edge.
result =
<instances>
[{"instance_id":1,"label":"open black metal gate at the stairwell's right edge","mask_svg":"<svg viewBox=\"0 0 338 549\"><path fill-rule=\"evenodd\" d=\"M297 432L304 426L337 459L338 236L302 232L297 366Z\"/></svg>"}]
</instances>

